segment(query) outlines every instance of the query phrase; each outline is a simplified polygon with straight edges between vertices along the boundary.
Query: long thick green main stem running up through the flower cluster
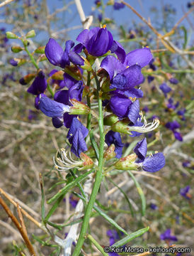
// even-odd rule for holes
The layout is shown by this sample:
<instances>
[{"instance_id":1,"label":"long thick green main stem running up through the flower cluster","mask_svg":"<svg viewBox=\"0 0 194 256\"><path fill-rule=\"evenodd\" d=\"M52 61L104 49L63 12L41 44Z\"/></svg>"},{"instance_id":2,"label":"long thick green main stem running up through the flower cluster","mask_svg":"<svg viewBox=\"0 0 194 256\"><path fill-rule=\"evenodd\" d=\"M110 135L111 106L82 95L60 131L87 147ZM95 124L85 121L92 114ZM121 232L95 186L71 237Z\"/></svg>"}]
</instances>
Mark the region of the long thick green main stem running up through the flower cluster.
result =
<instances>
[{"instance_id":1,"label":"long thick green main stem running up through the flower cluster","mask_svg":"<svg viewBox=\"0 0 194 256\"><path fill-rule=\"evenodd\" d=\"M77 241L74 253L72 256L78 256L79 252L81 250L82 245L84 244L84 240L86 237L87 228L89 225L89 219L91 216L91 212L93 209L93 205L96 201L96 196L98 194L98 190L101 186L101 181L103 179L103 149L104 149L104 134L103 134L103 106L102 106L102 99L99 95L100 92L100 83L98 81L98 78L96 76L96 73L93 73L95 80L96 80L96 86L97 86L97 96L98 96L98 110L99 110L99 118L98 118L98 125L99 125L99 131L100 131L100 151L99 151L99 159L98 159L98 170L96 171L96 180L93 184L93 190L91 192L91 197L89 199L89 203L86 207L85 213L84 213L84 220L81 226L81 231L79 234L79 239Z\"/></svg>"}]
</instances>

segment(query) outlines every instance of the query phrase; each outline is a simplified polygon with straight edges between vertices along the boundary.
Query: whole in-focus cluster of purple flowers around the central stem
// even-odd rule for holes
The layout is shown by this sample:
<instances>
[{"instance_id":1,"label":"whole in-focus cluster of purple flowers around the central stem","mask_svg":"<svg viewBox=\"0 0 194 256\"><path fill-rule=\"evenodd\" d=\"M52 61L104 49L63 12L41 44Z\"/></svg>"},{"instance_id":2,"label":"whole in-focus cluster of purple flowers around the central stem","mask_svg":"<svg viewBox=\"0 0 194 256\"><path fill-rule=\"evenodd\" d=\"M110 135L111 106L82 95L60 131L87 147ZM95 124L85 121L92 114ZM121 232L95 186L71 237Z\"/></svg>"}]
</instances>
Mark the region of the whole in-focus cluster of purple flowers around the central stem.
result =
<instances>
[{"instance_id":1,"label":"whole in-focus cluster of purple flowers around the central stem","mask_svg":"<svg viewBox=\"0 0 194 256\"><path fill-rule=\"evenodd\" d=\"M120 3L115 4L118 9ZM89 148L88 142L86 143L91 127L89 120L91 115L95 118L97 116L91 110L91 104L95 105L94 101L101 98L103 111L109 112L105 114L103 121L108 126L105 144L114 153L109 156L105 154L106 158L119 159L115 164L116 169L140 167L144 171L159 171L165 164L164 155L156 152L147 156L146 139L141 139L135 146L135 156L122 158L124 144L121 134L138 137L159 126L159 119L147 124L139 110L139 98L143 97L139 88L144 81L142 68L147 65L153 68L151 50L144 47L125 53L125 49L113 39L106 26L85 29L79 33L76 41L79 42L76 46L73 41L67 41L63 49L54 38L50 38L45 48L35 50L35 53L45 53L47 60L59 67L59 70L51 70L48 75L38 69L37 73L21 78L21 85L33 81L27 92L35 95L35 107L52 118L54 127L69 129L67 139L71 144L71 151L81 158ZM18 65L19 61L21 60L14 58L11 64ZM94 80L98 83L97 88L93 85ZM52 97L47 95L47 91ZM84 118L81 120L81 115L88 115L87 127L83 124ZM72 166L83 168L83 161L75 163L72 157L68 160L67 154L63 155L63 160L58 157L56 159L58 169L66 170ZM91 162L93 164L93 161L89 161L88 166L91 166Z\"/></svg>"}]
</instances>

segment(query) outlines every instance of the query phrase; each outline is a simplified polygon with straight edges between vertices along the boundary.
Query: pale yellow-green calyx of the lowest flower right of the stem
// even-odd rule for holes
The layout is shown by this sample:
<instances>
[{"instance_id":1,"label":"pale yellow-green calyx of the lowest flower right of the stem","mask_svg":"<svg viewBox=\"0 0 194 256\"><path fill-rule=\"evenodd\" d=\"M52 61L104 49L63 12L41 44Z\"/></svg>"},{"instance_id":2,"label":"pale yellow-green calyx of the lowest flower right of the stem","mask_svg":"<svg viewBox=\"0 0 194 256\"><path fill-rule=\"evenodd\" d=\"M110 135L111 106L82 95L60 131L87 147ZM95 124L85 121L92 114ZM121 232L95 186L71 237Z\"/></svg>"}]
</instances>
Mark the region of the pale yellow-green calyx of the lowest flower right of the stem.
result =
<instances>
[{"instance_id":1,"label":"pale yellow-green calyx of the lowest flower right of the stem","mask_svg":"<svg viewBox=\"0 0 194 256\"><path fill-rule=\"evenodd\" d=\"M129 156L122 157L117 161L114 166L118 170L137 170L138 164L135 164L137 159L136 154L130 154Z\"/></svg>"}]
</instances>

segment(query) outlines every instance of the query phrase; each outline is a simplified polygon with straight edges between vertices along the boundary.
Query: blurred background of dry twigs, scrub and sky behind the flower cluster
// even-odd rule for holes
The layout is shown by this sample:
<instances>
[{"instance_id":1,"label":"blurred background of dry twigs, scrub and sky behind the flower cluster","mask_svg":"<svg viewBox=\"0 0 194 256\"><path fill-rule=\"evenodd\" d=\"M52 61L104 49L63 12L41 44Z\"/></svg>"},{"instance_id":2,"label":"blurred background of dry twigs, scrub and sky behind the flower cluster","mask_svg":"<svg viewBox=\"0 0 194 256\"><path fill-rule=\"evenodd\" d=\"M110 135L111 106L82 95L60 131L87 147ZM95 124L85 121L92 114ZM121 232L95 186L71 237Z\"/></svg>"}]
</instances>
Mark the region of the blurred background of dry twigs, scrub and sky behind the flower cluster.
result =
<instances>
[{"instance_id":1,"label":"blurred background of dry twigs, scrub and sky behind the flower cluster","mask_svg":"<svg viewBox=\"0 0 194 256\"><path fill-rule=\"evenodd\" d=\"M24 35L34 29L37 36L33 40L29 39L30 51L38 46L45 46L50 37L56 38L63 45L67 39L75 40L82 26L74 1L58 0L55 4L53 2L18 0L0 9L0 187L19 202L23 202L21 204L23 209L29 211L38 221L41 220L39 173L44 178L46 198L50 198L53 191L48 189L62 178L53 169L52 158L57 149L64 147L67 130L64 127L55 129L51 120L35 109L33 96L26 92L27 87L18 82L23 75L33 73L35 70L30 63L16 68L9 64L9 60L15 57L15 53L11 52L11 46L19 45L20 42L8 40L6 31ZM192 189L189 191L190 199L187 199L181 196L180 189L191 187L193 183L193 14L186 16L174 33L166 36L165 42L168 46L166 47L159 36L127 6L125 9L115 10L113 3L109 2L108 6L106 1L103 5L96 5L91 1L90 4L88 1L87 3L83 1L83 4L86 15L93 15L92 26L106 23L115 38L125 47L126 52L142 46L149 46L152 50L154 62L143 70L145 80L141 85L144 92L141 110L147 119L152 120L153 116L160 119L161 125L156 132L148 134L147 139L148 144L154 141L153 145L149 145L150 151L164 151L166 166L154 175L135 173L147 198L147 211L143 217L140 213L141 199L137 188L124 172L113 176L113 181L130 198L135 215L131 215L123 194L109 181L107 181L108 191L102 186L98 200L119 225L123 228L127 227L128 232L149 225L149 232L135 240L136 243L131 244L133 247L164 245L160 235L167 228L171 228L173 235L178 238L176 242L178 247L179 245L192 247L193 191ZM148 21L152 17L152 26L158 33L164 35L171 31L176 22L190 11L193 5L192 1L176 1L177 4L174 1L173 4L166 2L153 1L153 4L147 5L147 1L139 0L136 4L135 1L130 1L130 4L136 10L139 9ZM123 20L122 11L125 11ZM18 53L16 58L18 56L26 58L23 52ZM40 66L47 75L52 70L51 65L46 61L40 63ZM178 83L171 83L171 78L176 78ZM160 85L164 82L171 87L168 95L164 95L160 89ZM178 111L182 112L178 114ZM181 125L176 132L181 134L183 141L177 140L174 131L166 128L166 123L174 120ZM126 147L134 141L131 137L125 139L126 141L123 142ZM62 186L57 186L57 190L60 187ZM64 220L68 220L74 213L74 208L69 203L70 196L71 193L68 193L65 197L66 201L60 203L59 208L50 218L52 222L64 223ZM155 209L152 204L156 205ZM11 203L8 205L13 213L16 213L16 208ZM19 249L16 247L23 249L21 235L13 227L3 208L0 208L0 216L0 255L19 255L17 254ZM108 224L101 217L91 219L90 224L91 232L95 234L94 238L100 241L101 245L109 245L106 235ZM51 255L55 248L40 247L38 239L33 236L34 234L36 238L43 239L45 234L42 230L35 227L27 218L25 225L39 255ZM68 232L68 228L68 226L64 228L65 232ZM58 234L62 236L64 232L59 231ZM15 248L13 240L17 244Z\"/></svg>"}]
</instances>

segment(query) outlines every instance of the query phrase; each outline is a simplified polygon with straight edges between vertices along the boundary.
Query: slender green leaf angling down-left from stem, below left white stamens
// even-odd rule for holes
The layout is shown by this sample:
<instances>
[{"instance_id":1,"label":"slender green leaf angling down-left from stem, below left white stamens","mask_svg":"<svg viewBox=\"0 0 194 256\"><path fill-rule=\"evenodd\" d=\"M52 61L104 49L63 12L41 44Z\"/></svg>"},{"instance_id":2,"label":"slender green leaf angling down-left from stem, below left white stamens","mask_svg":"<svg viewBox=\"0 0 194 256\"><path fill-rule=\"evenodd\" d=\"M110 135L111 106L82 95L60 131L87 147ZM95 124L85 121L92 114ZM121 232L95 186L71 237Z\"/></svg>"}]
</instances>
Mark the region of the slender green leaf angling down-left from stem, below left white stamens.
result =
<instances>
[{"instance_id":1,"label":"slender green leaf angling down-left from stem, below left white stamens","mask_svg":"<svg viewBox=\"0 0 194 256\"><path fill-rule=\"evenodd\" d=\"M53 196L52 198L50 198L49 201L47 201L47 203L52 203L55 200L57 200L60 196L64 196L67 191L69 191L70 188L73 188L74 186L76 186L76 183L80 182L80 181L84 181L84 179L91 174L93 171L93 169L91 169L91 171L87 171L85 174L82 174L81 176L79 176L78 178L74 179L74 181L72 181L71 183L67 184L67 186L65 186L64 188L60 189L58 193L56 193L55 196Z\"/></svg>"}]
</instances>

